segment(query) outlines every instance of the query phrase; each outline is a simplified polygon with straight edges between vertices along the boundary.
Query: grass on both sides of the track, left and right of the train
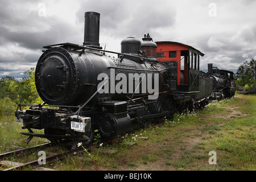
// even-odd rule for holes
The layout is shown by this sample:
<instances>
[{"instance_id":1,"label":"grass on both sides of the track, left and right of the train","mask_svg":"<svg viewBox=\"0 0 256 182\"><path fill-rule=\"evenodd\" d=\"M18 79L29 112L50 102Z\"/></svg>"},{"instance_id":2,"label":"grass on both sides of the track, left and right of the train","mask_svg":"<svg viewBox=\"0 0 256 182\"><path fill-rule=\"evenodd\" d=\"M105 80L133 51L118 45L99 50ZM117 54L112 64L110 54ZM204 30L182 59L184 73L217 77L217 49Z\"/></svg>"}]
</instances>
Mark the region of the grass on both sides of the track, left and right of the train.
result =
<instances>
[{"instance_id":1,"label":"grass on both sides of the track, left and right of the train","mask_svg":"<svg viewBox=\"0 0 256 182\"><path fill-rule=\"evenodd\" d=\"M204 110L175 114L159 125L136 131L121 141L108 146L118 150L103 154L98 149L79 157L66 158L47 164L57 170L242 170L256 169L256 96L237 94L230 100L214 102ZM20 123L13 118L0 121L0 151L14 146L24 147L19 134ZM147 140L139 137L148 137ZM44 143L45 139L32 139L29 145ZM126 142L136 142L129 146ZM99 145L96 142L95 145ZM216 164L209 164L214 151ZM82 158L93 160L81 160ZM15 159L14 159L15 160Z\"/></svg>"}]
</instances>

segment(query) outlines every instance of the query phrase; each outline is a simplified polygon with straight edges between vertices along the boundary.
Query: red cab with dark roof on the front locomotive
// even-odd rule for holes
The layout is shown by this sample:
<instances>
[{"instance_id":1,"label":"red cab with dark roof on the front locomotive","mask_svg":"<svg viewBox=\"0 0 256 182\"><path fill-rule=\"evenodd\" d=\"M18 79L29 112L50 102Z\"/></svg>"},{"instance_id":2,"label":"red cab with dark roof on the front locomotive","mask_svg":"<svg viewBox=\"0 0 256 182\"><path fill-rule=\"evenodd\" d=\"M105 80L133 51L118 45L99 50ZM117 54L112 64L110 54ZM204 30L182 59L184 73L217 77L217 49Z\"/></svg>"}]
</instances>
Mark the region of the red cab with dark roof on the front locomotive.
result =
<instances>
[{"instance_id":1,"label":"red cab with dark roof on the front locomotive","mask_svg":"<svg viewBox=\"0 0 256 182\"><path fill-rule=\"evenodd\" d=\"M177 63L177 90L208 94L212 91L210 79L200 71L200 57L204 53L177 42L156 42L156 57L160 61ZM203 96L203 95L202 95ZM201 94L197 98L201 97Z\"/></svg>"}]
</instances>

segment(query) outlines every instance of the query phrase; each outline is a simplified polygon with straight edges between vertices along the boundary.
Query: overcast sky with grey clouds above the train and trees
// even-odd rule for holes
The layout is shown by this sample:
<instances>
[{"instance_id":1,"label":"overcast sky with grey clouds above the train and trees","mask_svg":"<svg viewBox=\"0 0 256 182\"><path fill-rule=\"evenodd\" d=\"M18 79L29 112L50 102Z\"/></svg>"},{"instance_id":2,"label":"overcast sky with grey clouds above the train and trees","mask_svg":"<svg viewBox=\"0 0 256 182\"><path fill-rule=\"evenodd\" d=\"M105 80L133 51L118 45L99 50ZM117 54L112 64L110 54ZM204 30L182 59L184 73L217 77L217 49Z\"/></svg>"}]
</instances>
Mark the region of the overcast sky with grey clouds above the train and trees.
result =
<instances>
[{"instance_id":1,"label":"overcast sky with grey clouds above the train and trees","mask_svg":"<svg viewBox=\"0 0 256 182\"><path fill-rule=\"evenodd\" d=\"M205 54L200 68L213 63L236 72L256 59L256 1L253 0L0 0L0 77L23 77L36 66L42 47L82 44L84 13L100 18L100 44L120 51L129 36L149 33L156 41L188 44Z\"/></svg>"}]
</instances>

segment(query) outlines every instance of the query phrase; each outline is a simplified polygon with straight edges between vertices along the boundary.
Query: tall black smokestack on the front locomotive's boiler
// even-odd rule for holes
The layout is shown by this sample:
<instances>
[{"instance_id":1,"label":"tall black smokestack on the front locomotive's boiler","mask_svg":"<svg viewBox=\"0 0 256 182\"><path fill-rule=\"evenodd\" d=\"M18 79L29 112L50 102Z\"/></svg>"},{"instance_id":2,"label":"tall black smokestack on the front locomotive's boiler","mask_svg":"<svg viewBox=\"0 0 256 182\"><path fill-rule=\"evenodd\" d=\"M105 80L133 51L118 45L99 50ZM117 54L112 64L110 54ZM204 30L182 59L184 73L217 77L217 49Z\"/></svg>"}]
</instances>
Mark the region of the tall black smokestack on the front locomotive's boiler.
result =
<instances>
[{"instance_id":1,"label":"tall black smokestack on the front locomotive's boiler","mask_svg":"<svg viewBox=\"0 0 256 182\"><path fill-rule=\"evenodd\" d=\"M84 46L100 47L100 13L85 12L84 22Z\"/></svg>"}]
</instances>

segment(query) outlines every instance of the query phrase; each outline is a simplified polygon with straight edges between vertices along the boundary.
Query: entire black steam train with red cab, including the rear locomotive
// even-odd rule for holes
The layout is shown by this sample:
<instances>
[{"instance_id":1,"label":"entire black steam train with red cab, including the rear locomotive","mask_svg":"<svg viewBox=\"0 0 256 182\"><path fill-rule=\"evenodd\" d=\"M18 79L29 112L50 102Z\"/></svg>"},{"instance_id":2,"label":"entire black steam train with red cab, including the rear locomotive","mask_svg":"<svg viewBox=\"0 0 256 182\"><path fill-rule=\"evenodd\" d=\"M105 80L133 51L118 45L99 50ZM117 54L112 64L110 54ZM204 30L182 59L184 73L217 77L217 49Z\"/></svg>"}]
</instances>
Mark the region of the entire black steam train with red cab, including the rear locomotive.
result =
<instances>
[{"instance_id":1,"label":"entire black steam train with red cab, including the rear locomotive","mask_svg":"<svg viewBox=\"0 0 256 182\"><path fill-rule=\"evenodd\" d=\"M100 47L100 14L85 13L84 43L44 46L35 69L35 85L44 101L22 110L15 119L21 133L51 141L72 139L84 144L94 131L109 138L125 133L148 120L171 117L176 111L193 109L234 95L233 72L209 64L200 71L199 50L176 42L153 42L129 37L121 52ZM107 56L113 53L117 57ZM44 129L35 134L32 129Z\"/></svg>"}]
</instances>

